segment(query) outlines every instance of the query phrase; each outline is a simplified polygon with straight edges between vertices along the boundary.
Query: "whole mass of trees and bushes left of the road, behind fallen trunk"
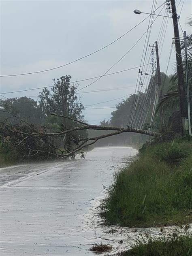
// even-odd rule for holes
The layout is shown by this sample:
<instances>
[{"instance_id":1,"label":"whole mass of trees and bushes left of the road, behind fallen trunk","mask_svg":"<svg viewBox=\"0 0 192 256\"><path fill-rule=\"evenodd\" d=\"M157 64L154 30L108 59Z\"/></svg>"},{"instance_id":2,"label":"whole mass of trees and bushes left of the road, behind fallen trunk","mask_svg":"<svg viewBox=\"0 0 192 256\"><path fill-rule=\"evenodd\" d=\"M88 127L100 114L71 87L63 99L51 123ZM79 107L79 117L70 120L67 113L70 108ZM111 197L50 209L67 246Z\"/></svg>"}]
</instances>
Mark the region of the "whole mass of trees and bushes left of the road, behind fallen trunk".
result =
<instances>
[{"instance_id":1,"label":"whole mass of trees and bushes left of the road, behind fallen trunk","mask_svg":"<svg viewBox=\"0 0 192 256\"><path fill-rule=\"evenodd\" d=\"M63 137L54 138L47 136L25 138L25 134L16 133L16 131L30 133L35 129L40 129L38 130L40 132L45 130L60 132L79 126L77 122L70 119L51 115L51 113L56 113L84 121L82 115L84 107L81 99L76 95L78 84L71 85L70 79L70 75L62 76L56 81L53 79L54 85L51 92L44 88L39 95L39 102L27 97L0 100L0 139L2 142L0 150L3 158L5 156L9 158L9 152L16 160L53 158L56 157L55 154L61 155L73 151L74 147L79 144L79 139L87 137L86 130L70 132ZM36 124L41 124L41 127L37 127ZM11 132L11 129L14 132Z\"/></svg>"}]
</instances>

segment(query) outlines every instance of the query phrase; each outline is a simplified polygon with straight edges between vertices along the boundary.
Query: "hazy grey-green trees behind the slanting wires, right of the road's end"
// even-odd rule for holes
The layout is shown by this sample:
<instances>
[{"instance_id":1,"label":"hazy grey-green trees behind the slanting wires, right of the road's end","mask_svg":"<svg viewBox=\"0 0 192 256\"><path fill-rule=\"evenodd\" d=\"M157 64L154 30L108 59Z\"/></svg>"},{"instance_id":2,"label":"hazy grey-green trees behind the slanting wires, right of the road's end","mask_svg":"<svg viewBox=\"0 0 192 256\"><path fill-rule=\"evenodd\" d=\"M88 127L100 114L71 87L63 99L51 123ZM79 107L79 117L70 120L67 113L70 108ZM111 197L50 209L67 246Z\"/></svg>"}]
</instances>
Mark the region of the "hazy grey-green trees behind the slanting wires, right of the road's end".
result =
<instances>
[{"instance_id":1,"label":"hazy grey-green trees behind the slanting wires, right of the road's end","mask_svg":"<svg viewBox=\"0 0 192 256\"><path fill-rule=\"evenodd\" d=\"M170 77L161 73L163 92L167 93L171 87ZM131 124L136 128L148 129L157 131L160 128L160 114L156 111L153 125L150 125L151 115L156 94L156 74L151 76L149 84L145 91L140 87L138 94L132 94L122 102L116 105L116 110L111 113L110 125L126 127ZM176 97L178 99L178 96ZM169 111L164 110L164 122L167 124L170 114L175 111L175 106L169 105ZM134 113L134 115L133 115ZM129 135L128 135L129 136Z\"/></svg>"}]
</instances>

